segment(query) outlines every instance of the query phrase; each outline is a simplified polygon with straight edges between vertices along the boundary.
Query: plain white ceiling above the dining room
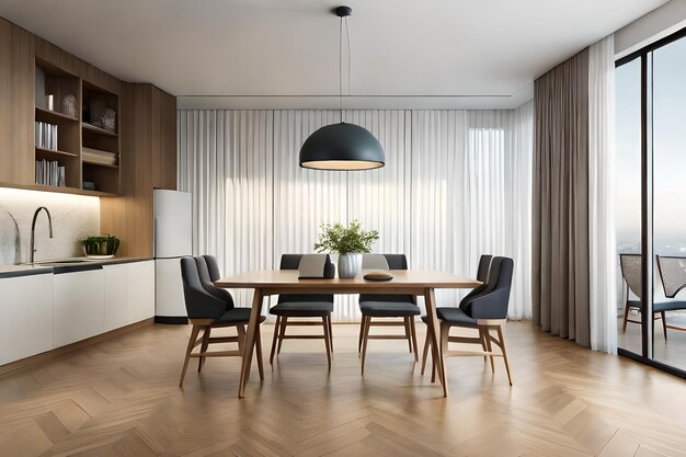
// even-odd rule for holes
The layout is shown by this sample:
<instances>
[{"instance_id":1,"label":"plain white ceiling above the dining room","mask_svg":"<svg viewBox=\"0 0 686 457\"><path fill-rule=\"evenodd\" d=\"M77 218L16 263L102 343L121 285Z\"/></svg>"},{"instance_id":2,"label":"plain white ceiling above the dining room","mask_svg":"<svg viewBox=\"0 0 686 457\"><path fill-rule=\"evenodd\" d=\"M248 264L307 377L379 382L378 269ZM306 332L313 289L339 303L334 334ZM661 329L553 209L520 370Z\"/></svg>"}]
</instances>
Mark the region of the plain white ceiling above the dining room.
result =
<instances>
[{"instance_id":1,"label":"plain white ceiling above the dining room","mask_svg":"<svg viewBox=\"0 0 686 457\"><path fill-rule=\"evenodd\" d=\"M663 3L350 0L351 93L379 104L526 100L536 77ZM0 0L0 16L123 80L192 95L191 104L224 95L216 100L315 105L336 100L339 20L330 10L339 4Z\"/></svg>"}]
</instances>

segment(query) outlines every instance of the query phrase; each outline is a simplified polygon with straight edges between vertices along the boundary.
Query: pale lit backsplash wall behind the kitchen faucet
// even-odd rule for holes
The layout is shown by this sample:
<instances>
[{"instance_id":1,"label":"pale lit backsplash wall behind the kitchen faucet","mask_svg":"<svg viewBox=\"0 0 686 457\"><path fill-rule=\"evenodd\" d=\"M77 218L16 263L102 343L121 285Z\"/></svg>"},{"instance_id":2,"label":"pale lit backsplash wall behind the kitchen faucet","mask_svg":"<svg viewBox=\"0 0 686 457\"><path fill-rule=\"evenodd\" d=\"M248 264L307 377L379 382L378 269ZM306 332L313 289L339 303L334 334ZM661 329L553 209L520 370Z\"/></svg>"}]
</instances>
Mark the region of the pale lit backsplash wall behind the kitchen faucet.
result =
<instances>
[{"instance_id":1,"label":"pale lit backsplash wall behind the kitchen faucet","mask_svg":"<svg viewBox=\"0 0 686 457\"><path fill-rule=\"evenodd\" d=\"M28 261L31 221L39 206L47 207L53 216L54 238L48 237L47 216L41 212L36 222L36 261L83 255L79 240L100 232L98 197L0 187L0 264ZM14 248L16 229L19 252Z\"/></svg>"}]
</instances>

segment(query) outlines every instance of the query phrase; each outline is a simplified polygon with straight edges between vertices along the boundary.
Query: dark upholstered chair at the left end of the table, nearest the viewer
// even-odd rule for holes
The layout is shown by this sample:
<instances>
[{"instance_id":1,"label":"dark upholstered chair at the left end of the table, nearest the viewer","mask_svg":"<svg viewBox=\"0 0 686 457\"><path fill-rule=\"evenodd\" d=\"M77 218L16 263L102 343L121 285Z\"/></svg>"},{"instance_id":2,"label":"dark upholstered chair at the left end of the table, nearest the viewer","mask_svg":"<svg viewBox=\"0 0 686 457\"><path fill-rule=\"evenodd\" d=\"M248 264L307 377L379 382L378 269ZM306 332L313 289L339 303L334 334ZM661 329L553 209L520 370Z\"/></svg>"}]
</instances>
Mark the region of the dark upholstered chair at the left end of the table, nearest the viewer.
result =
<instances>
[{"instance_id":1,"label":"dark upholstered chair at the left end of the table, nearest the viewer","mask_svg":"<svg viewBox=\"0 0 686 457\"><path fill-rule=\"evenodd\" d=\"M191 357L197 357L197 370L198 373L205 365L206 357L220 357L220 356L243 356L244 343L245 343L245 325L250 319L250 308L236 308L233 306L233 299L228 290L216 287L211 283L210 269L216 269L217 276L219 275L217 269L217 262L214 258L210 263L214 265L209 267L206 260L207 256L196 258L183 258L181 259L181 278L183 282L183 295L185 298L186 312L188 315L188 321L193 325L191 330L191 338L188 340L188 346L186 349L185 358L183 362L183 369L181 372L181 380L179 387L183 386L183 379L185 378L186 370L188 368L188 361ZM260 323L265 320L263 316L260 317ZM235 327L237 330L236 336L210 336L213 329ZM198 334L203 331L203 336L198 338ZM256 353L258 353L258 368L260 369L260 379L264 379L264 368L262 366L262 344L260 342L260 325L258 325L258 332L255 335ZM214 343L238 343L238 351L214 351L208 352L207 347ZM198 353L193 353L196 346L201 346Z\"/></svg>"}]
</instances>

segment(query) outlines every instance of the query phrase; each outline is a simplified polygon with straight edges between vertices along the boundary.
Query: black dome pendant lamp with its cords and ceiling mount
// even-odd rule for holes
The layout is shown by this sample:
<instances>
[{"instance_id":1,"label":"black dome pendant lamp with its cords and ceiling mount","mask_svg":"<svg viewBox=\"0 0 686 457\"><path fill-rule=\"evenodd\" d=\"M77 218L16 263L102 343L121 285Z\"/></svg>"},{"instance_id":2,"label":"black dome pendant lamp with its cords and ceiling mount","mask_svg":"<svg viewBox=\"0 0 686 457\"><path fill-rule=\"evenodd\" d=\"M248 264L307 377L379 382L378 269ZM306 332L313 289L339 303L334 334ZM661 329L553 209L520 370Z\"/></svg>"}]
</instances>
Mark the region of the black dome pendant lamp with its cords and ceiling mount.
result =
<instances>
[{"instance_id":1,"label":"black dome pendant lamp with its cords and ceiling mount","mask_svg":"<svg viewBox=\"0 0 686 457\"><path fill-rule=\"evenodd\" d=\"M386 164L386 155L378 139L371 133L358 125L343 122L343 21L347 33L347 16L353 13L350 7L339 7L334 10L341 18L339 33L339 104L341 123L321 127L300 148L300 167L316 170L371 170ZM350 36L348 36L350 59ZM350 60L348 60L348 91L350 91Z\"/></svg>"}]
</instances>

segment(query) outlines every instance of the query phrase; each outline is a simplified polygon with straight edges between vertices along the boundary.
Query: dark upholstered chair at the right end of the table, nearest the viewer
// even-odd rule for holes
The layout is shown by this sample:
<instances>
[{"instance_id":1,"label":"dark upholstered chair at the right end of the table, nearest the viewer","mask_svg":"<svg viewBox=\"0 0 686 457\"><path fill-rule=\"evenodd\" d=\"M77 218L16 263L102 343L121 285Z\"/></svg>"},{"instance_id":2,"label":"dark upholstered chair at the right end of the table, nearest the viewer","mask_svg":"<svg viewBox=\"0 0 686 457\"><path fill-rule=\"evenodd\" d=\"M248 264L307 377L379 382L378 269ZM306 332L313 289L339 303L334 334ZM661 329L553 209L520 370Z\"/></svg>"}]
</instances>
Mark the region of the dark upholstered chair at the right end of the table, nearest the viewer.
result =
<instances>
[{"instance_id":1,"label":"dark upholstered chair at the right end of the table, nearest the viewer","mask_svg":"<svg viewBox=\"0 0 686 457\"><path fill-rule=\"evenodd\" d=\"M468 295L460 301L459 308L436 308L436 315L441 320L441 357L449 355L488 355L491 361L491 370L495 372L493 357L503 357L507 380L512 386L512 374L507 351L505 350L505 335L503 328L507 321L507 307L510 305L510 289L512 288L512 273L514 262L510 258L493 258L489 269L489 278L485 287L480 292ZM478 338L450 336L453 327L477 329ZM498 336L491 331L495 330ZM448 343L478 344L481 351L448 351ZM485 344L485 350L483 345ZM501 350L500 354L493 352L493 344ZM435 364L432 380L435 379Z\"/></svg>"}]
</instances>

